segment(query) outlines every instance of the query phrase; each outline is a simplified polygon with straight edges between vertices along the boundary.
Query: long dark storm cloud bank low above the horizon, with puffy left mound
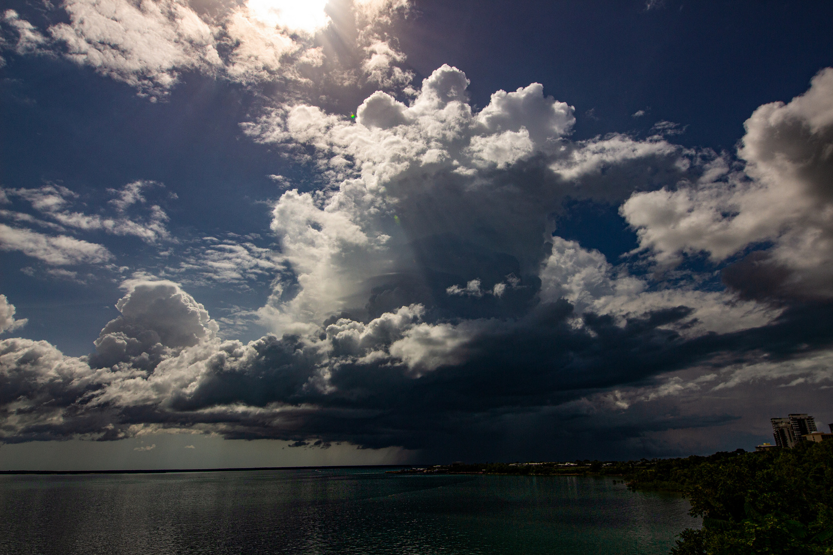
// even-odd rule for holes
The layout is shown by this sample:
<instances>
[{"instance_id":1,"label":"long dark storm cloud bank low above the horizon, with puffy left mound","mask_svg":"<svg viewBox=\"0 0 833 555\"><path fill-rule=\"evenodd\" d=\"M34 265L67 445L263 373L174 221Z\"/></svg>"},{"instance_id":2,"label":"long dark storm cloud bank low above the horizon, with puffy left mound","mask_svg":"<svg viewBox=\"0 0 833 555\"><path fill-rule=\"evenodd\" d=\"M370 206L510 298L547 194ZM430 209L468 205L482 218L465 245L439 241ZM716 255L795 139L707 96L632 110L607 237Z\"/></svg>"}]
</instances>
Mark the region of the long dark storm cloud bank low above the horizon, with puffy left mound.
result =
<instances>
[{"instance_id":1,"label":"long dark storm cloud bank low above the horizon, with puffy left mound","mask_svg":"<svg viewBox=\"0 0 833 555\"><path fill-rule=\"evenodd\" d=\"M581 407L600 415L638 412L662 399L731 387L733 379L830 379L826 370L819 374L833 340L827 307L686 337L675 329L694 311L684 306L621 320L588 310L576 326L566 300L541 302L520 319L436 323L425 320L424 307L410 305L367 323L332 318L308 334L245 344L217 337L202 305L172 282L133 280L124 288L122 315L88 357L64 356L43 341L0 341L3 442L171 429L440 453L448 442L476 449L468 439L460 444L472 434L475 443L490 434L492 446L510 441L519 429L544 425L554 410L562 433L572 434L589 425L565 419ZM726 349L735 363L726 364ZM766 359L773 362L766 366ZM701 374L669 375L691 369ZM654 425L635 421L616 441ZM681 424L656 429L668 425Z\"/></svg>"}]
</instances>

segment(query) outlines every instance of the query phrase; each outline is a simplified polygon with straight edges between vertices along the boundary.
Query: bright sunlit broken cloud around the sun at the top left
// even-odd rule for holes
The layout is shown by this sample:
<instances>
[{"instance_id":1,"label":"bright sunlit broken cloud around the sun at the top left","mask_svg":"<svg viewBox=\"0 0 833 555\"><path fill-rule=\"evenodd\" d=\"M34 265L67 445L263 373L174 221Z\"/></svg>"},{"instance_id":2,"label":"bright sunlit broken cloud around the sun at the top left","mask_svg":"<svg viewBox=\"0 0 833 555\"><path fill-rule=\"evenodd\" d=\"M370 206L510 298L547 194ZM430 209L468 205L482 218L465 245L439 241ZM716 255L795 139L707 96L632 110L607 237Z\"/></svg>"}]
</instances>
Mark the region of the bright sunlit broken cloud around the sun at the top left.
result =
<instances>
[{"instance_id":1,"label":"bright sunlit broken cloud around the sun at the top left","mask_svg":"<svg viewBox=\"0 0 833 555\"><path fill-rule=\"evenodd\" d=\"M54 14L67 21L48 27L48 37L13 10L4 21L19 35L18 54L67 57L136 87L152 102L166 97L187 72L247 85L277 81L290 85L289 97L298 91L318 97L310 90L356 85L362 73L387 88L411 81L413 73L397 65L405 56L387 32L394 14L408 5L407 0L348 2L355 16L351 32L329 29L327 0L247 0L216 6L211 14L184 0L69 0L61 4L64 13ZM322 33L338 34L338 43L366 59L335 52L332 41L320 46ZM326 72L311 71L325 64Z\"/></svg>"}]
</instances>

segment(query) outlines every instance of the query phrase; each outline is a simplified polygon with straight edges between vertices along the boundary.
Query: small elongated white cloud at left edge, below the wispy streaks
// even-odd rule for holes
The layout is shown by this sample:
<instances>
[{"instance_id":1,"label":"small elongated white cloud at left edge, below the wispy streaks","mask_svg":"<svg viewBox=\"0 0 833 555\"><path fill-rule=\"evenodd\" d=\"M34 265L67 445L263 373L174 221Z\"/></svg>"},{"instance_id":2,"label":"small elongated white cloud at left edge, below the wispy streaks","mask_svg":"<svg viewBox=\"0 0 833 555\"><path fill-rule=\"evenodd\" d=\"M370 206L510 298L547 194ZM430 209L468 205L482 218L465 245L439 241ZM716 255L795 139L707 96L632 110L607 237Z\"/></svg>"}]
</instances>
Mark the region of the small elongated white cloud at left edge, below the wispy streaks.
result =
<instances>
[{"instance_id":1,"label":"small elongated white cloud at left edge, below the wispy streaks","mask_svg":"<svg viewBox=\"0 0 833 555\"><path fill-rule=\"evenodd\" d=\"M0 224L0 250L19 250L49 265L101 264L113 258L102 245L67 235L52 237L5 224Z\"/></svg>"}]
</instances>

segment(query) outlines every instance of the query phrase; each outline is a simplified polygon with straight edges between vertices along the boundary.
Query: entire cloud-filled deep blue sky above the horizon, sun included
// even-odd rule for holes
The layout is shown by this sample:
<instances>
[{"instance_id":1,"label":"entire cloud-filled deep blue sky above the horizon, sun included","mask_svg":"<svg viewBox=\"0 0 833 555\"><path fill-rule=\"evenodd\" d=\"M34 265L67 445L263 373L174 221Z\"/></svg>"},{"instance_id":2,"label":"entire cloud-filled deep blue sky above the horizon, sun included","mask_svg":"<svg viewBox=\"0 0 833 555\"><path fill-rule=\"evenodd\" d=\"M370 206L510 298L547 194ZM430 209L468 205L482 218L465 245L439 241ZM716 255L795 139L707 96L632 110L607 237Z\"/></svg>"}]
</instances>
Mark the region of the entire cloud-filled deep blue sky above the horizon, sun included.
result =
<instances>
[{"instance_id":1,"label":"entire cloud-filled deep blue sky above the horizon, sun included","mask_svg":"<svg viewBox=\"0 0 833 555\"><path fill-rule=\"evenodd\" d=\"M0 469L833 422L829 2L3 5Z\"/></svg>"}]
</instances>

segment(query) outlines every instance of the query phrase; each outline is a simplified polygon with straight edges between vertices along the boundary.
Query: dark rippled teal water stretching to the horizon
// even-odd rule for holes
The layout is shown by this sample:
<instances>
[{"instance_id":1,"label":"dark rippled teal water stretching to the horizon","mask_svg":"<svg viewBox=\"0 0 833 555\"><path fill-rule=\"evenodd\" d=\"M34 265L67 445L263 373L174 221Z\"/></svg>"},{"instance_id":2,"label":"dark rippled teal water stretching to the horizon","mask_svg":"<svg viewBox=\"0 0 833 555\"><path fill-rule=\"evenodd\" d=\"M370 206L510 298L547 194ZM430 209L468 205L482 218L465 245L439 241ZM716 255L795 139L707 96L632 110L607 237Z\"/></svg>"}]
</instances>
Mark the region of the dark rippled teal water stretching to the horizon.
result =
<instances>
[{"instance_id":1,"label":"dark rippled teal water stretching to the horizon","mask_svg":"<svg viewBox=\"0 0 833 555\"><path fill-rule=\"evenodd\" d=\"M0 476L0 553L668 553L685 499L610 478L379 469Z\"/></svg>"}]
</instances>

